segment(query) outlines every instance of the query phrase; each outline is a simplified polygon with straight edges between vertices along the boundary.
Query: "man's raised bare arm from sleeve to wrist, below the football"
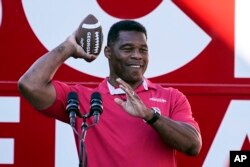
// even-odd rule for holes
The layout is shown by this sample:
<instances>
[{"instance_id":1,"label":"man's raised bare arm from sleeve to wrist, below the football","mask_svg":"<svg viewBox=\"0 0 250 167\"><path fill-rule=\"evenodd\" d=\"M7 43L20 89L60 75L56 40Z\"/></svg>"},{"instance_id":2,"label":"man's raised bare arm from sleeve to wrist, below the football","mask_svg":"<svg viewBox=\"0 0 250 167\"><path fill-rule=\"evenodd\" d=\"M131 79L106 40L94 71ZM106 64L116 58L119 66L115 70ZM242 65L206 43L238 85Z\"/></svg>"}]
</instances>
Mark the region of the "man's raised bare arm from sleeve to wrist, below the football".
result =
<instances>
[{"instance_id":1,"label":"man's raised bare arm from sleeve to wrist, below the football","mask_svg":"<svg viewBox=\"0 0 250 167\"><path fill-rule=\"evenodd\" d=\"M19 79L20 92L37 109L51 105L56 97L51 80L57 69L74 52L73 45L64 42L40 57Z\"/></svg>"}]
</instances>

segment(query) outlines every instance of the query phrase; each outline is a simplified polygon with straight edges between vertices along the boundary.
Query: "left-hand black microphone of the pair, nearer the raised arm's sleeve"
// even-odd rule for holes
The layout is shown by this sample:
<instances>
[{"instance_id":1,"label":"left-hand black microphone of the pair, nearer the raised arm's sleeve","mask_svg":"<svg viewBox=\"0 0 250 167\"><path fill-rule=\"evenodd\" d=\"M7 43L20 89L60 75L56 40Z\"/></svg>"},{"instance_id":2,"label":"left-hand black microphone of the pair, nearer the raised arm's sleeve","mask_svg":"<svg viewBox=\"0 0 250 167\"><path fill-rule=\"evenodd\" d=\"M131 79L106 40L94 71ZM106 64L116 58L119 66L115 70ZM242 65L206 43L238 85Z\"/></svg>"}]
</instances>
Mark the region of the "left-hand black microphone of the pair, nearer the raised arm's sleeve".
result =
<instances>
[{"instance_id":1,"label":"left-hand black microphone of the pair, nearer the raised arm's sleeve","mask_svg":"<svg viewBox=\"0 0 250 167\"><path fill-rule=\"evenodd\" d=\"M76 92L70 92L68 94L66 111L69 114L70 125L75 127L76 115L80 115L79 113L79 100Z\"/></svg>"}]
</instances>

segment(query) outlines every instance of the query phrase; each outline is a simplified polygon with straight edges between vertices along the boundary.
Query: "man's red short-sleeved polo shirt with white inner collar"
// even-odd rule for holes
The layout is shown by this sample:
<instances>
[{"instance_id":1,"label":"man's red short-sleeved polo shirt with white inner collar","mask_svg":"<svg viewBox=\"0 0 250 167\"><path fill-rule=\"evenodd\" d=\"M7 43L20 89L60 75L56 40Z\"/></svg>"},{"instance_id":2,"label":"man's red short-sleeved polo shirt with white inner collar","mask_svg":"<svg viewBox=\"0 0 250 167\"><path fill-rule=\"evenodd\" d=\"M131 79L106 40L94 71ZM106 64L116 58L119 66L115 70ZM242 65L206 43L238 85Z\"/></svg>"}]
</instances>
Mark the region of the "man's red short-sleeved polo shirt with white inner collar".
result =
<instances>
[{"instance_id":1,"label":"man's red short-sleeved polo shirt with white inner collar","mask_svg":"<svg viewBox=\"0 0 250 167\"><path fill-rule=\"evenodd\" d=\"M103 113L99 123L89 128L85 144L88 167L175 167L175 150L163 143L158 133L142 119L130 116L114 102L114 98L126 99L124 92L103 80L95 89L82 85L69 86L53 81L57 98L45 115L69 122L65 111L68 93L77 92L80 111L89 112L90 97L99 91L103 99ZM161 114L176 121L188 123L199 131L192 117L190 104L177 89L163 88L144 80L135 92L147 107L158 107ZM91 123L91 118L89 120ZM76 129L81 133L82 119L77 119Z\"/></svg>"}]
</instances>

